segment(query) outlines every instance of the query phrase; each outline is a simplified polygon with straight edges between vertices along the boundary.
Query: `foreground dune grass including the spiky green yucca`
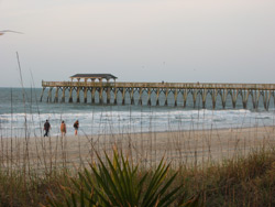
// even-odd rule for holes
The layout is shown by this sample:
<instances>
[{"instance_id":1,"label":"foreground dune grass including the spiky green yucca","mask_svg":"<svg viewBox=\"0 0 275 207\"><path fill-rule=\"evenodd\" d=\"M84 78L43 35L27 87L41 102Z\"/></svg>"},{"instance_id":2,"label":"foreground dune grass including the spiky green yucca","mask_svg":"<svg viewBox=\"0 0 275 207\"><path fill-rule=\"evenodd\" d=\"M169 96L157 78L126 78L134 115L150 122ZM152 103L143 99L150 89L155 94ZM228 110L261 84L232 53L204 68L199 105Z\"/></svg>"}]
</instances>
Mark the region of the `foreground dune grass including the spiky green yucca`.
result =
<instances>
[{"instance_id":1,"label":"foreground dune grass including the spiky green yucca","mask_svg":"<svg viewBox=\"0 0 275 207\"><path fill-rule=\"evenodd\" d=\"M205 167L174 168L162 161L145 168L117 152L98 154L98 161L77 171L1 165L0 206L275 205L274 149Z\"/></svg>"}]
</instances>

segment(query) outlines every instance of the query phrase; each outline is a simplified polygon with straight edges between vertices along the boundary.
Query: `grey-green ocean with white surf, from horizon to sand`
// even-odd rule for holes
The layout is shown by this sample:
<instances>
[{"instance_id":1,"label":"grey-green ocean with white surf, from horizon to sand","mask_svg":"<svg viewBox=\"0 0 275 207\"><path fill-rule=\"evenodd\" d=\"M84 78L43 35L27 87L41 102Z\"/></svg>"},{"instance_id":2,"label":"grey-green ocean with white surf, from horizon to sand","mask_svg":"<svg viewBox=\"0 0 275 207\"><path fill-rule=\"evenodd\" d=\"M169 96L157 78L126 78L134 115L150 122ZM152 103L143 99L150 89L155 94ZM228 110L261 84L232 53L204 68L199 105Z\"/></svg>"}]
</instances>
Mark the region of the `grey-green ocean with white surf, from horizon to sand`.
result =
<instances>
[{"instance_id":1,"label":"grey-green ocean with white surf, from horizon to sand","mask_svg":"<svg viewBox=\"0 0 275 207\"><path fill-rule=\"evenodd\" d=\"M202 109L200 101L194 107L191 98L188 98L186 108L182 106L180 100L178 106L174 107L173 96L168 97L167 107L154 106L153 98L152 106L130 105L130 100L127 100L124 106L120 100L118 105L103 106L91 102L55 103L46 102L45 97L41 102L41 91L42 88L0 88L1 138L41 137L46 119L52 127L52 137L61 134L62 120L67 126L68 135L74 134L73 124L76 120L79 120L79 134L250 128L274 126L275 121L273 99L268 111L264 109L262 101L257 110L253 110L252 101L249 101L248 109L243 109L240 97L235 109L228 97L226 109L222 109L218 100L216 110L212 110L211 97L207 97L207 108ZM146 102L146 97L143 102ZM164 102L164 97L160 96L160 102Z\"/></svg>"}]
</instances>

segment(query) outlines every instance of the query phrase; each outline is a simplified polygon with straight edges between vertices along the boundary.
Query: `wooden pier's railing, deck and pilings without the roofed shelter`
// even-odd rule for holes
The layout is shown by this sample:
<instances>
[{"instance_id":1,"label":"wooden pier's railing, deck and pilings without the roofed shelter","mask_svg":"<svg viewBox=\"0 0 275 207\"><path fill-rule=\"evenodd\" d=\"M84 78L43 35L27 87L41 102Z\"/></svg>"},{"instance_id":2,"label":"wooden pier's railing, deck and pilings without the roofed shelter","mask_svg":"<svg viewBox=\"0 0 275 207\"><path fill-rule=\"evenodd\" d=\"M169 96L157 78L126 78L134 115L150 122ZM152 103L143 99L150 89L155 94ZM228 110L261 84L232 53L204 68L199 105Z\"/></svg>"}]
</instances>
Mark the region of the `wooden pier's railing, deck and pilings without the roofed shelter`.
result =
<instances>
[{"instance_id":1,"label":"wooden pier's railing, deck and pilings without the roofed shelter","mask_svg":"<svg viewBox=\"0 0 275 207\"><path fill-rule=\"evenodd\" d=\"M260 99L262 98L264 108L268 110L270 100L273 97L275 103L275 84L212 84L212 83L123 83L123 81L42 81L43 94L48 88L47 101L52 101L52 90L55 88L54 102L58 102L58 94L62 91L62 102L65 101L66 91L68 102L73 102L73 94L77 98L76 102L80 102L80 94L84 95L84 102L88 102L87 94L91 95L91 103L118 103L118 94L122 96L121 103L125 103L127 94L130 97L130 103L135 103L135 97L139 96L138 103L143 105L144 95L146 105L152 105L151 95L155 94L155 105L160 106L160 96L164 95L164 105L168 106L168 95L174 96L174 106L178 106L178 95L183 96L183 107L186 107L187 98L193 99L194 107L197 102L197 97L201 97L202 108L206 108L207 97L211 97L212 108L216 108L217 98L221 98L222 108L226 108L228 97L231 97L232 107L235 108L238 97L241 98L243 108L248 108L248 102L252 101L253 108L258 108ZM112 95L112 96L111 96ZM135 95L135 96L134 96ZM188 96L191 95L191 96ZM97 98L96 98L97 96Z\"/></svg>"}]
</instances>

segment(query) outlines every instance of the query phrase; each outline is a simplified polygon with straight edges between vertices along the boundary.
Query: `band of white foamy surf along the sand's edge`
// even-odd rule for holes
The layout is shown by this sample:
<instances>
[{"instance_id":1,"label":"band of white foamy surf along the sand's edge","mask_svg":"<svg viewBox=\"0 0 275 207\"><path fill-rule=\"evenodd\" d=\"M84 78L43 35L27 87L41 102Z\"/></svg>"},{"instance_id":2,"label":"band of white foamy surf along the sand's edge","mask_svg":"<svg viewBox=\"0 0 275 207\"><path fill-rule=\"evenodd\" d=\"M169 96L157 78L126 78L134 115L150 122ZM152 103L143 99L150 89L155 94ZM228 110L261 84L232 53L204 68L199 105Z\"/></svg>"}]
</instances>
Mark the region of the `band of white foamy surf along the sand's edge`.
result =
<instances>
[{"instance_id":1,"label":"band of white foamy surf along the sand's edge","mask_svg":"<svg viewBox=\"0 0 275 207\"><path fill-rule=\"evenodd\" d=\"M57 134L59 123L65 120L68 133L73 133L76 119L86 133L118 133L121 130L167 131L216 128L254 127L273 124L273 112L252 112L250 110L94 110L63 113L3 113L0 115L1 131L22 131L28 126L31 133L41 131L44 121L50 120L53 133Z\"/></svg>"}]
</instances>

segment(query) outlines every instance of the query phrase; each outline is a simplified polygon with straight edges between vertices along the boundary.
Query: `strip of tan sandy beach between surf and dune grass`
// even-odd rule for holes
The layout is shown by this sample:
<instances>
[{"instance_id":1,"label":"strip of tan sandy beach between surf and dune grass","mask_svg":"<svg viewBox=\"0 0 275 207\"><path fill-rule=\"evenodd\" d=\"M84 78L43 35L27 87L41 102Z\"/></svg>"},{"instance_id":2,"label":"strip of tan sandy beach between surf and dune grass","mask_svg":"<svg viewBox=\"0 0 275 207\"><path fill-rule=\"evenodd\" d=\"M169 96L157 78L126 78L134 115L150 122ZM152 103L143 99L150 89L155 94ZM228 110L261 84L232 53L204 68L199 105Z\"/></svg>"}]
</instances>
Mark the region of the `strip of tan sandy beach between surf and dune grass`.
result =
<instances>
[{"instance_id":1,"label":"strip of tan sandy beach between surf and dune grass","mask_svg":"<svg viewBox=\"0 0 275 207\"><path fill-rule=\"evenodd\" d=\"M97 161L96 152L111 154L113 148L145 167L163 156L172 165L190 166L245 156L261 148L275 146L275 128L212 129L100 135L2 138L2 166L52 171L79 167Z\"/></svg>"}]
</instances>

